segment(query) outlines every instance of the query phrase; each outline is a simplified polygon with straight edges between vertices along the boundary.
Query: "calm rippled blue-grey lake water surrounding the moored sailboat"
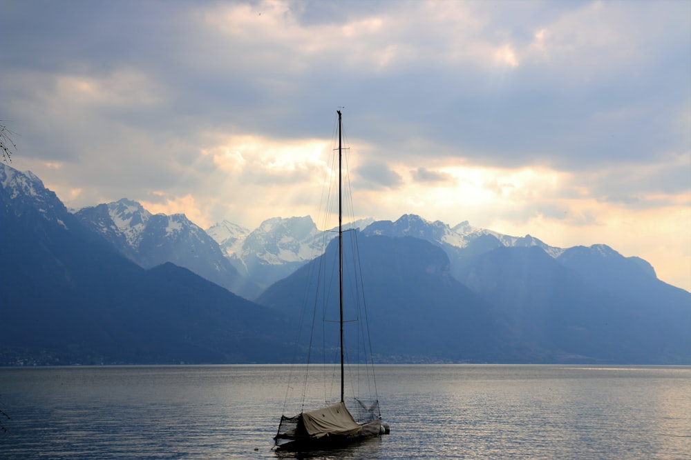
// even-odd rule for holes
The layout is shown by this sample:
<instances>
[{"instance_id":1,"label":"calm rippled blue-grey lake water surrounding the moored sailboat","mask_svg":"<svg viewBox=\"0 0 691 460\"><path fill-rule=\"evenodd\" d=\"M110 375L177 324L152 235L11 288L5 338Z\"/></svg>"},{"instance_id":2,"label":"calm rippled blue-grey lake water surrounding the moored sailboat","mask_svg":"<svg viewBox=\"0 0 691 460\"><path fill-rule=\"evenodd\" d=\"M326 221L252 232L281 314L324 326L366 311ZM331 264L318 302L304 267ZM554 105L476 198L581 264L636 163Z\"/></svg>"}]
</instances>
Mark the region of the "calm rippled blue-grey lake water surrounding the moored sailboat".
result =
<instances>
[{"instance_id":1,"label":"calm rippled blue-grey lake water surrounding the moored sailboat","mask_svg":"<svg viewBox=\"0 0 691 460\"><path fill-rule=\"evenodd\" d=\"M2 368L0 457L281 458L289 372ZM691 367L378 366L377 389L390 435L294 457L691 459Z\"/></svg>"}]
</instances>

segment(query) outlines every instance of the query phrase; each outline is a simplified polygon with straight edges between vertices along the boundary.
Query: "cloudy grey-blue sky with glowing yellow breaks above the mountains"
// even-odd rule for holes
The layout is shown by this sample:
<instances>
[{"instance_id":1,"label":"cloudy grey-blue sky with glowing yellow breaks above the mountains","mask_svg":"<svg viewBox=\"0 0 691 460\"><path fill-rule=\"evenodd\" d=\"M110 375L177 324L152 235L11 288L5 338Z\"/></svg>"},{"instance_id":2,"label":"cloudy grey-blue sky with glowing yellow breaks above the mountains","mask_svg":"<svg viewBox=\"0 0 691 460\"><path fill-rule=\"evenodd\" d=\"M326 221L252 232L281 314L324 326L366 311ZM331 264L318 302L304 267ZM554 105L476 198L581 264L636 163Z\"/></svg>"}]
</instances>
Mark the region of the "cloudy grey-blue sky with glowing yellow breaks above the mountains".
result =
<instances>
[{"instance_id":1,"label":"cloudy grey-blue sky with glowing yellow breaks above the mountains","mask_svg":"<svg viewBox=\"0 0 691 460\"><path fill-rule=\"evenodd\" d=\"M0 0L11 166L316 217L336 110L358 217L605 243L691 289L691 2Z\"/></svg>"}]
</instances>

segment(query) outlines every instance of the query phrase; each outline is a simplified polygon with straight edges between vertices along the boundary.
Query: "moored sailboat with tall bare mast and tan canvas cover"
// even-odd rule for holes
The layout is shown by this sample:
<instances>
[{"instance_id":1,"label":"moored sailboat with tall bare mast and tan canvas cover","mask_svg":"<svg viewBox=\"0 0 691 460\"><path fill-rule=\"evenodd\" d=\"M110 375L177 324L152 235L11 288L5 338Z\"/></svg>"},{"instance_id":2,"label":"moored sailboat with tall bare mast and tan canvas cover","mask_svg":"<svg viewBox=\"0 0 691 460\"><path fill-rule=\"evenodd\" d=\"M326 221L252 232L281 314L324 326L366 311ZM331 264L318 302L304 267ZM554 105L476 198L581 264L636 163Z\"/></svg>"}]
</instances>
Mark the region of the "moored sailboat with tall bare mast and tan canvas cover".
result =
<instances>
[{"instance_id":1,"label":"moored sailboat with tall bare mast and tan canvas cover","mask_svg":"<svg viewBox=\"0 0 691 460\"><path fill-rule=\"evenodd\" d=\"M363 402L353 397L351 410L345 403L345 359L343 334L343 121L338 114L338 244L339 244L339 354L340 354L340 400L312 410L303 410L297 415L281 416L274 447L281 450L323 450L388 434L388 423L381 421L379 401ZM334 149L335 150L335 149ZM373 370L372 370L373 374ZM349 401L350 402L350 401ZM285 408L284 408L285 412ZM351 413L352 412L352 413ZM356 414L355 417L353 414Z\"/></svg>"}]
</instances>

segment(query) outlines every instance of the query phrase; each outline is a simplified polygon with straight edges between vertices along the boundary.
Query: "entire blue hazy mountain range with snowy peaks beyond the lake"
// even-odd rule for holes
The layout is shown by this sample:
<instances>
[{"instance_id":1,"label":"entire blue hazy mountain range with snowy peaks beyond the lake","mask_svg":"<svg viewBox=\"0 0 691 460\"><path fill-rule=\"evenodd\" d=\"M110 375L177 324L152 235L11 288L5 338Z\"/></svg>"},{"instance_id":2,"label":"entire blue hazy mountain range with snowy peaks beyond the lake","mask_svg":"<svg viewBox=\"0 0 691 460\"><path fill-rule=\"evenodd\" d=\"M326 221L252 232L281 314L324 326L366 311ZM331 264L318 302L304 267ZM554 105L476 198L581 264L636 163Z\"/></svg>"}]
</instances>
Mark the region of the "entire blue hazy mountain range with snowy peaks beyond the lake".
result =
<instances>
[{"instance_id":1,"label":"entire blue hazy mountain range with snowy peaks beyond the lake","mask_svg":"<svg viewBox=\"0 0 691 460\"><path fill-rule=\"evenodd\" d=\"M0 186L0 365L285 362L337 253L310 217L205 231L127 199L69 212L2 163ZM643 259L410 214L354 227L379 362L691 363L691 294Z\"/></svg>"}]
</instances>

